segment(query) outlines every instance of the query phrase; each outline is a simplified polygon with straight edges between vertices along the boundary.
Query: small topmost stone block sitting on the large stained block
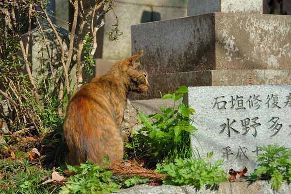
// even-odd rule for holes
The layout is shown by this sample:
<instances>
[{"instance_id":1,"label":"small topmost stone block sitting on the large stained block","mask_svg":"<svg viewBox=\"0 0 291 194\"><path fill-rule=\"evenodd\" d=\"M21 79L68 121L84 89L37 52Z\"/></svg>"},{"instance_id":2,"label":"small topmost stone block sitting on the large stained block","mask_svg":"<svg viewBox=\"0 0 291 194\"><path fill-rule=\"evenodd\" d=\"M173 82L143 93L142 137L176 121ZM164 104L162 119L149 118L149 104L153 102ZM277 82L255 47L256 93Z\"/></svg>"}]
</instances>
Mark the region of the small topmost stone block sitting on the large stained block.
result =
<instances>
[{"instance_id":1,"label":"small topmost stone block sitting on the large stained block","mask_svg":"<svg viewBox=\"0 0 291 194\"><path fill-rule=\"evenodd\" d=\"M262 0L188 0L187 15L211 12L262 14Z\"/></svg>"}]
</instances>

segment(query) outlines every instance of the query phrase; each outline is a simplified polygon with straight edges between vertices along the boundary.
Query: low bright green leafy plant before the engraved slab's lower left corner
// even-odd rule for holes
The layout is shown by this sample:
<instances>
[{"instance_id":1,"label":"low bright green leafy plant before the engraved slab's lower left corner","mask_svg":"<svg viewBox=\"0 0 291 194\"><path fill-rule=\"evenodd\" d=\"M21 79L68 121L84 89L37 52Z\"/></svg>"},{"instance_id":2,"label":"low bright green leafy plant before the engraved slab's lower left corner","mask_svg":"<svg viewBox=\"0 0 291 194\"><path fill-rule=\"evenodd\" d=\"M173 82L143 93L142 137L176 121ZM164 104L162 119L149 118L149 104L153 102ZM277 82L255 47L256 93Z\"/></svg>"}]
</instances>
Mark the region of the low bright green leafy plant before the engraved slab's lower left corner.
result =
<instances>
[{"instance_id":1,"label":"low bright green leafy plant before the engraved slab's lower left corner","mask_svg":"<svg viewBox=\"0 0 291 194\"><path fill-rule=\"evenodd\" d=\"M175 163L157 164L156 172L167 175L163 179L165 185L190 185L193 184L197 189L203 185L215 187L220 182L227 181L224 170L219 169L223 159L210 164L210 158L213 152L207 155L206 161L203 159L178 158Z\"/></svg>"}]
</instances>

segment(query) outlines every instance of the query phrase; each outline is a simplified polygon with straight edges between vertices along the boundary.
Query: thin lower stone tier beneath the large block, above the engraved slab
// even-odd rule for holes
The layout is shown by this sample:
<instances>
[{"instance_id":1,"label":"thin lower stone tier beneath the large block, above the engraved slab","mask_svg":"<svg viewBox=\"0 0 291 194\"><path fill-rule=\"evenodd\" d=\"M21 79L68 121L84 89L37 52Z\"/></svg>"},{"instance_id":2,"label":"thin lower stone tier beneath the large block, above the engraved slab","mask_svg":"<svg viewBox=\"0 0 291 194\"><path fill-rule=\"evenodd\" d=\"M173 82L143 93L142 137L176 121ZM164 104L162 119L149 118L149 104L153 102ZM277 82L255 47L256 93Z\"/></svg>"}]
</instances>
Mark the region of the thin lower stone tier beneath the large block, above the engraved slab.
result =
<instances>
[{"instance_id":1,"label":"thin lower stone tier beneath the large block, above the engraved slab","mask_svg":"<svg viewBox=\"0 0 291 194\"><path fill-rule=\"evenodd\" d=\"M131 100L161 98L180 86L241 86L291 84L291 70L211 70L148 75L149 89L130 93Z\"/></svg>"}]
</instances>

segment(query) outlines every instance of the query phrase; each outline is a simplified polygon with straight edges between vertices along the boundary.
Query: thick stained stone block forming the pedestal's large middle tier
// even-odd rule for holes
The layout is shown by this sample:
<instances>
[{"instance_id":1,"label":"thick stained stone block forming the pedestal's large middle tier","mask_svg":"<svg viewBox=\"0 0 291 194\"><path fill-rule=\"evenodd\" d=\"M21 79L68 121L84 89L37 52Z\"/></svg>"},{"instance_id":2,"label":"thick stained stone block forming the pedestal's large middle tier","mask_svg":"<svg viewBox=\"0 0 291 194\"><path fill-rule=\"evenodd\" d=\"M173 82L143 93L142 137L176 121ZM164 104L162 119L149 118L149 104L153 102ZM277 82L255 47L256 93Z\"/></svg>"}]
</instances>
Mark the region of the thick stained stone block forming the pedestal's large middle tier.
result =
<instances>
[{"instance_id":1,"label":"thick stained stone block forming the pedestal's large middle tier","mask_svg":"<svg viewBox=\"0 0 291 194\"><path fill-rule=\"evenodd\" d=\"M291 70L291 16L210 13L131 26L149 74Z\"/></svg>"}]
</instances>

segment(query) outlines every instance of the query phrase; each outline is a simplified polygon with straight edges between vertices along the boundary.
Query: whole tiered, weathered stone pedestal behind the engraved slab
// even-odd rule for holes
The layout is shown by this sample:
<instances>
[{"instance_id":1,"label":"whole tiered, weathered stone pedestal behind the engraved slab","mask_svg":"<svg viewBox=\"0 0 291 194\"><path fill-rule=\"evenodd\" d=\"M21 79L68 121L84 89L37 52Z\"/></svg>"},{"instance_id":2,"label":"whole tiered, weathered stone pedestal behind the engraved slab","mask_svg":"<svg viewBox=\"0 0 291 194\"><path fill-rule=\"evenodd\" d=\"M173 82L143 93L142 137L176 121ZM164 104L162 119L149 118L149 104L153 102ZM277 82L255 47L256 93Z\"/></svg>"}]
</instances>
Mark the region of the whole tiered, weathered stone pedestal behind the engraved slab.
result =
<instances>
[{"instance_id":1,"label":"whole tiered, weathered stone pedestal behind the engraved slab","mask_svg":"<svg viewBox=\"0 0 291 194\"><path fill-rule=\"evenodd\" d=\"M291 16L263 15L262 0L188 0L189 10L200 15L131 27L132 53L144 49L150 83L132 99L182 85L291 84Z\"/></svg>"}]
</instances>

